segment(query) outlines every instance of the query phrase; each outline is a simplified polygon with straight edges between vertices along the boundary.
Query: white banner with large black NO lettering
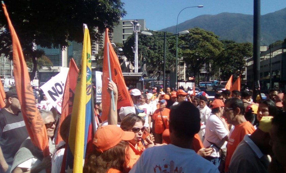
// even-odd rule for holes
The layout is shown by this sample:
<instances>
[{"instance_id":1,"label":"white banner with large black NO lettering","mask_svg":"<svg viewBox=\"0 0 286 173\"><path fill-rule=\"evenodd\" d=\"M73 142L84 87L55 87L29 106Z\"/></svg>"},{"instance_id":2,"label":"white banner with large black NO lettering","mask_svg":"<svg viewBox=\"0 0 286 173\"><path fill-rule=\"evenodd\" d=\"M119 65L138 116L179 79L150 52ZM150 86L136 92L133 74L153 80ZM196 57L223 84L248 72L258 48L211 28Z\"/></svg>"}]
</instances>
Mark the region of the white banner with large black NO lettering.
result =
<instances>
[{"instance_id":1,"label":"white banner with large black NO lettering","mask_svg":"<svg viewBox=\"0 0 286 173\"><path fill-rule=\"evenodd\" d=\"M55 107L59 113L62 113L64 86L67 76L68 68L62 67L59 74L40 87L48 98L50 104L52 104L52 106Z\"/></svg>"}]
</instances>

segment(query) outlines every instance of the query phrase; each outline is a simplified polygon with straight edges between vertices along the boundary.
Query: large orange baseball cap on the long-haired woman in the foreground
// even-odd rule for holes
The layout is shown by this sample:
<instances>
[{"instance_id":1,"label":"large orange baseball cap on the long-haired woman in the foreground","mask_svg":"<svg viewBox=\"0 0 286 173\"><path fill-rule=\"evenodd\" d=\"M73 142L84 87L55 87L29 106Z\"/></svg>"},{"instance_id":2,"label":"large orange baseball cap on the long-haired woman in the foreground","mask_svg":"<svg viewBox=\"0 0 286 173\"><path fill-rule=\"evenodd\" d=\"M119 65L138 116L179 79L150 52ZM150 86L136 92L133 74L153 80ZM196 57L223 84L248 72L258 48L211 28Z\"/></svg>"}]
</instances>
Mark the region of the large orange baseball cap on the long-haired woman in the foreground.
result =
<instances>
[{"instance_id":1,"label":"large orange baseball cap on the long-haired woman in the foreground","mask_svg":"<svg viewBox=\"0 0 286 173\"><path fill-rule=\"evenodd\" d=\"M134 132L123 131L117 125L105 125L96 130L93 144L95 144L96 151L104 152L121 140L132 140L135 137Z\"/></svg>"}]
</instances>

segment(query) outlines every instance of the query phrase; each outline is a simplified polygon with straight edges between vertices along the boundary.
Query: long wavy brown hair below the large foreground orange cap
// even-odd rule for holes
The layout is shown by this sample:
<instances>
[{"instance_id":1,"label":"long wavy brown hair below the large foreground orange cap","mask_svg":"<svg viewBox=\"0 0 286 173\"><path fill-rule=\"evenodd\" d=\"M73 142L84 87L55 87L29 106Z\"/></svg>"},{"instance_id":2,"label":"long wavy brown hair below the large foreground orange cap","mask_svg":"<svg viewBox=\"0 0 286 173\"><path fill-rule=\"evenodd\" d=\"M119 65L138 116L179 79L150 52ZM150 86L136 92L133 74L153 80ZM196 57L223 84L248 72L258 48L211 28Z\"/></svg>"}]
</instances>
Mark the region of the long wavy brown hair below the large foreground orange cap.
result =
<instances>
[{"instance_id":1,"label":"long wavy brown hair below the large foreground orange cap","mask_svg":"<svg viewBox=\"0 0 286 173\"><path fill-rule=\"evenodd\" d=\"M117 145L104 152L95 151L88 157L84 164L83 172L85 173L105 173L110 168L126 172L126 161L129 160L128 142L121 140Z\"/></svg>"}]
</instances>

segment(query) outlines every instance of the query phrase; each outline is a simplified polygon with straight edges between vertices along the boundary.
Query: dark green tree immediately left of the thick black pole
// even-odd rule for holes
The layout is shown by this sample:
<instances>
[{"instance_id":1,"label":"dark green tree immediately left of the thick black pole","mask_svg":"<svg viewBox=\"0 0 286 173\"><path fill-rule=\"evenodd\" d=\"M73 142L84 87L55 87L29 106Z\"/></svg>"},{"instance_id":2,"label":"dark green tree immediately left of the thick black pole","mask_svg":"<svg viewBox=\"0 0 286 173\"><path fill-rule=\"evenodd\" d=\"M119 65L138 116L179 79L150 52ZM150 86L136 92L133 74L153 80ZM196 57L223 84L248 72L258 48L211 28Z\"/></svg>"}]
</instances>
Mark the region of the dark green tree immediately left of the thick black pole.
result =
<instances>
[{"instance_id":1,"label":"dark green tree immediately left of the thick black pole","mask_svg":"<svg viewBox=\"0 0 286 173\"><path fill-rule=\"evenodd\" d=\"M253 44L236 43L232 40L222 40L224 50L220 53L220 67L222 79L226 80L232 74L242 74L245 69L246 58L253 54Z\"/></svg>"}]
</instances>

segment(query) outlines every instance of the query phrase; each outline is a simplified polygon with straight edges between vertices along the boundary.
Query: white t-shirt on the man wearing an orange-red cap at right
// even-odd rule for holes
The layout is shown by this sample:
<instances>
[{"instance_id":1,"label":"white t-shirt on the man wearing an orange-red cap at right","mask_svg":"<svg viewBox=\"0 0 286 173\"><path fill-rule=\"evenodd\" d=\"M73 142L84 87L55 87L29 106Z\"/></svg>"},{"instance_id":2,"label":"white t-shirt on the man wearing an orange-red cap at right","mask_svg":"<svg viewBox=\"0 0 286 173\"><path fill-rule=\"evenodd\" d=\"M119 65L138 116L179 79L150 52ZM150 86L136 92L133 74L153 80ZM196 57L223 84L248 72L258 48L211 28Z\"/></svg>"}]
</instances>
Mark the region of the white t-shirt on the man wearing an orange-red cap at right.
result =
<instances>
[{"instance_id":1,"label":"white t-shirt on the man wearing an orange-red cap at right","mask_svg":"<svg viewBox=\"0 0 286 173\"><path fill-rule=\"evenodd\" d=\"M205 133L205 140L203 141L204 147L209 147L211 143L208 141L215 143L218 147L223 147L226 141L222 141L228 134L228 131L224 127L222 121L219 119L218 116L215 114L211 114L211 116L207 119L206 125L206 133ZM219 157L219 149L214 147L214 151L211 153L210 156L212 157Z\"/></svg>"}]
</instances>

